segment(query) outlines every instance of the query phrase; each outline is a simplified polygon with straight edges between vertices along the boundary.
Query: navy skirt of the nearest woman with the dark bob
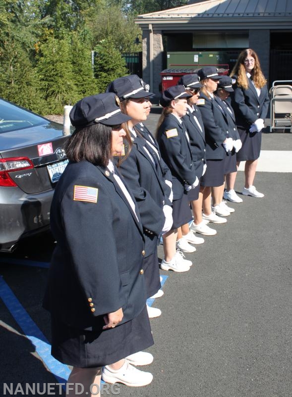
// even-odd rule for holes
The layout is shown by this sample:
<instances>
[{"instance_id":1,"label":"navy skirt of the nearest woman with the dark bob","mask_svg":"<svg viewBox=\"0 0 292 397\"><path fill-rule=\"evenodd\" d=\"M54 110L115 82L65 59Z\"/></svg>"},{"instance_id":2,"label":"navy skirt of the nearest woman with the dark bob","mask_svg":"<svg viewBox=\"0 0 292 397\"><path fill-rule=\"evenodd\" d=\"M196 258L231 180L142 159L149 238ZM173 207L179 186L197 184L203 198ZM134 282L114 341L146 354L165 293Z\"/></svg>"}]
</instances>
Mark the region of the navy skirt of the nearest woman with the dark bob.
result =
<instances>
[{"instance_id":1,"label":"navy skirt of the nearest woman with the dark bob","mask_svg":"<svg viewBox=\"0 0 292 397\"><path fill-rule=\"evenodd\" d=\"M133 320L109 330L77 330L52 316L52 356L78 368L103 367L153 345L146 304Z\"/></svg>"}]
</instances>

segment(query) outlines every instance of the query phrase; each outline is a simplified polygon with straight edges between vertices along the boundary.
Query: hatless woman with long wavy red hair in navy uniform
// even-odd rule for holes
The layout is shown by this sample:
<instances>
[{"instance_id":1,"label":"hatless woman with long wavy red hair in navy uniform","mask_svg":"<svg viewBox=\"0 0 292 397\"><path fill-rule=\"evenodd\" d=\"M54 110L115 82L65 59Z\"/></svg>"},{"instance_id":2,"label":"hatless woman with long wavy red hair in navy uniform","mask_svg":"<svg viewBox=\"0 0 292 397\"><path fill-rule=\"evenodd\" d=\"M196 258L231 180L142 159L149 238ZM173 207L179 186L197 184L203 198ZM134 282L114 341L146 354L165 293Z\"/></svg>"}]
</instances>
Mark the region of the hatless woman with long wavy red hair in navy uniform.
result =
<instances>
[{"instance_id":1,"label":"hatless woman with long wavy red hair in navy uniform","mask_svg":"<svg viewBox=\"0 0 292 397\"><path fill-rule=\"evenodd\" d=\"M262 198L253 185L261 150L262 129L268 113L269 93L257 54L250 48L243 50L231 76L236 79L231 95L237 130L242 148L237 153L237 166L245 161L245 185L242 194Z\"/></svg>"}]
</instances>

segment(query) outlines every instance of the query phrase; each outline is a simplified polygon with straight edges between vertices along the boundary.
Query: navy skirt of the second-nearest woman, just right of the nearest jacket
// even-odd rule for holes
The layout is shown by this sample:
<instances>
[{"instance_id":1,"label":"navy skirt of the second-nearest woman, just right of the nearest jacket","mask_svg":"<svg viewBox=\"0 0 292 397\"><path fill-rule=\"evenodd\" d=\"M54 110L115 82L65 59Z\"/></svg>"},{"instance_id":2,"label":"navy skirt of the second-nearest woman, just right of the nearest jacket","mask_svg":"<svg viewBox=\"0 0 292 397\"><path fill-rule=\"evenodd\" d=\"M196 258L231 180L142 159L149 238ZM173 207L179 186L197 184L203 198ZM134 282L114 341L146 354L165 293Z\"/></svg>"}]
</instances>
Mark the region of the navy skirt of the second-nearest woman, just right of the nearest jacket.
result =
<instances>
[{"instance_id":1,"label":"navy skirt of the second-nearest woman, just right of the nearest jacket","mask_svg":"<svg viewBox=\"0 0 292 397\"><path fill-rule=\"evenodd\" d=\"M147 299L161 288L157 252L143 259Z\"/></svg>"}]
</instances>

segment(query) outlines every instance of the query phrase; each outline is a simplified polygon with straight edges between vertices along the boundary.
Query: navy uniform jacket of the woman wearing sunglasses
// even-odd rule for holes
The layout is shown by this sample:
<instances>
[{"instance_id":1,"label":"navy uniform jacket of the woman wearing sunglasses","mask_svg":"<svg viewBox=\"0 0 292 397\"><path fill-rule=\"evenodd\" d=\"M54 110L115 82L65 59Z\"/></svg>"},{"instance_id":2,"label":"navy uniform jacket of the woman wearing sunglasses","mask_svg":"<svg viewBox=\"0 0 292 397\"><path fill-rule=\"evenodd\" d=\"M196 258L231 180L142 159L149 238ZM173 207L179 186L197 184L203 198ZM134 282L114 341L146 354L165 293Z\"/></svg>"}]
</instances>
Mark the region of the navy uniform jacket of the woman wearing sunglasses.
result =
<instances>
[{"instance_id":1,"label":"navy uniform jacket of the woman wearing sunglasses","mask_svg":"<svg viewBox=\"0 0 292 397\"><path fill-rule=\"evenodd\" d=\"M188 109L181 120L189 136L195 174L200 179L203 174L203 166L206 163L205 130L199 108L193 105L193 109L193 112ZM202 131L197 125L194 116L197 118Z\"/></svg>"}]
</instances>

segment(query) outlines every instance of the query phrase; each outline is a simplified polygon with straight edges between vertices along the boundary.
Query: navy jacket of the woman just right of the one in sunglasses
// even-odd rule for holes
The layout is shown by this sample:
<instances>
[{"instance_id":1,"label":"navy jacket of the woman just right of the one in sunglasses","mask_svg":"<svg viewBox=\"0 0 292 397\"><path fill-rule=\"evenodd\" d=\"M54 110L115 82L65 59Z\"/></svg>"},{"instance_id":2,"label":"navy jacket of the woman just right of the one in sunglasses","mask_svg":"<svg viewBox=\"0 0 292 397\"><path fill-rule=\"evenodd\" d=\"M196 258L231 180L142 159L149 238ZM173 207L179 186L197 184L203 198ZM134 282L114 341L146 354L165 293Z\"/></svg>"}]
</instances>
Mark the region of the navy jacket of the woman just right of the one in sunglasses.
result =
<instances>
[{"instance_id":1,"label":"navy jacket of the woman just right of the one in sunglasses","mask_svg":"<svg viewBox=\"0 0 292 397\"><path fill-rule=\"evenodd\" d=\"M204 99L204 104L198 107L205 127L206 158L223 160L226 151L222 143L228 137L227 117L215 99L209 99L203 92L200 92L200 99Z\"/></svg>"}]
</instances>

